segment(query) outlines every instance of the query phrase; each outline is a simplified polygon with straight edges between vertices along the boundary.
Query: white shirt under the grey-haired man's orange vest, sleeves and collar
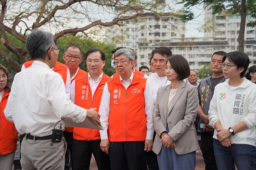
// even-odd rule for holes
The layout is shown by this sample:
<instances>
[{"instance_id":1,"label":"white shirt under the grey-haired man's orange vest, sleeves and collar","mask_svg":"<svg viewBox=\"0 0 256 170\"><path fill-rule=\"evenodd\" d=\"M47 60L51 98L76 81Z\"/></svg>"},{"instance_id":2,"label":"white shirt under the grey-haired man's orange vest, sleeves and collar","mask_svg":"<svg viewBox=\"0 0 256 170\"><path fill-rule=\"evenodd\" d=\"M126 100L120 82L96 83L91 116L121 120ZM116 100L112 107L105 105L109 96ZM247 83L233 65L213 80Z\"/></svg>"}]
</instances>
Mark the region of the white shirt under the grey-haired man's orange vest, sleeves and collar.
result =
<instances>
[{"instance_id":1,"label":"white shirt under the grey-haired man's orange vest, sleeves and collar","mask_svg":"<svg viewBox=\"0 0 256 170\"><path fill-rule=\"evenodd\" d=\"M133 79L133 72L131 77L125 81L121 76L119 76L121 83L124 85L125 89L129 87ZM146 87L144 91L144 98L145 98L145 115L146 115L146 125L147 125L147 135L146 139L153 140L154 135L154 125L153 125L153 111L154 111L154 104L153 104L153 97L151 95L151 88L148 83L146 82ZM108 91L108 83L105 84L102 98L100 102L100 122L101 126L104 130L100 130L100 138L101 140L108 139L108 117L110 113L110 92Z\"/></svg>"}]
</instances>

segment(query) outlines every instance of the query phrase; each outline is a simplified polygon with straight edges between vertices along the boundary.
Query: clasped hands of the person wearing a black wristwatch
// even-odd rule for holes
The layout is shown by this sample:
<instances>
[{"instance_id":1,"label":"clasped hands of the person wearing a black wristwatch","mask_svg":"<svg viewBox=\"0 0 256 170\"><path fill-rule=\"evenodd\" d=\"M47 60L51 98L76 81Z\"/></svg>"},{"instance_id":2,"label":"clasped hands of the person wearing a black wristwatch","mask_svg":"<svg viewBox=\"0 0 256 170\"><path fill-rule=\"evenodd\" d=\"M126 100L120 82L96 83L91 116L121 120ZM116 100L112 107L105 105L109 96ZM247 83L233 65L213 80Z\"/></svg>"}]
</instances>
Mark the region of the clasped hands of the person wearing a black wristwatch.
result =
<instances>
[{"instance_id":1,"label":"clasped hands of the person wearing a black wristwatch","mask_svg":"<svg viewBox=\"0 0 256 170\"><path fill-rule=\"evenodd\" d=\"M216 136L222 146L229 147L233 144L232 140L230 139L231 133L228 129L220 128L216 129L216 131L218 132Z\"/></svg>"}]
</instances>

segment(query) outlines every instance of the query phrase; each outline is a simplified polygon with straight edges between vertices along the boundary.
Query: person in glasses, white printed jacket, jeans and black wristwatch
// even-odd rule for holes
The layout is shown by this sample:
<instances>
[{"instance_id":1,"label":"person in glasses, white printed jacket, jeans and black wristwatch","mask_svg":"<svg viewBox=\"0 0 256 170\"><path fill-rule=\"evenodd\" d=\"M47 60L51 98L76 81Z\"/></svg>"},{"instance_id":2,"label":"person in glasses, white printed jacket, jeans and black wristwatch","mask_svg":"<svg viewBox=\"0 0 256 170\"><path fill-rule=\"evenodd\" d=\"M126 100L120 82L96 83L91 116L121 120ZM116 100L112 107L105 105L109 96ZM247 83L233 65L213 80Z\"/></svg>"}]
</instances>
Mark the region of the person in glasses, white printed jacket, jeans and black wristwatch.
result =
<instances>
[{"instance_id":1,"label":"person in glasses, white printed jacket, jeans and black wristwatch","mask_svg":"<svg viewBox=\"0 0 256 170\"><path fill-rule=\"evenodd\" d=\"M244 52L222 59L226 81L215 87L209 125L215 128L213 148L219 170L256 169L256 85L244 77L250 63Z\"/></svg>"}]
</instances>

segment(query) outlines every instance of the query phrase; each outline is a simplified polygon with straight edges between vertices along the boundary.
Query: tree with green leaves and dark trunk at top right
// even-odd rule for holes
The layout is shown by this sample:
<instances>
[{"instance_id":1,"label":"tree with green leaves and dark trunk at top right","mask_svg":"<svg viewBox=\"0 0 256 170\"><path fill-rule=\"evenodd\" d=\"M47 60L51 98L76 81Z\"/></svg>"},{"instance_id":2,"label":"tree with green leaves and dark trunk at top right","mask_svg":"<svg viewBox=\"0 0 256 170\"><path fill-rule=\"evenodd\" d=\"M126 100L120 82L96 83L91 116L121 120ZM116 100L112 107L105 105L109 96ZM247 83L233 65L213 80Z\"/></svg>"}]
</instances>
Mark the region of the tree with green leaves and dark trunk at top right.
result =
<instances>
[{"instance_id":1,"label":"tree with green leaves and dark trunk at top right","mask_svg":"<svg viewBox=\"0 0 256 170\"><path fill-rule=\"evenodd\" d=\"M209 9L212 9L212 14L221 14L224 16L240 14L241 22L238 36L238 49L240 51L244 51L244 31L246 15L250 15L252 18L256 18L255 0L178 0L178 4L183 4L183 8L180 11L180 17L185 22L196 18L194 12L192 11L192 7L196 5L204 5L204 9L209 6ZM256 26L256 21L250 20L247 23L247 26Z\"/></svg>"}]
</instances>

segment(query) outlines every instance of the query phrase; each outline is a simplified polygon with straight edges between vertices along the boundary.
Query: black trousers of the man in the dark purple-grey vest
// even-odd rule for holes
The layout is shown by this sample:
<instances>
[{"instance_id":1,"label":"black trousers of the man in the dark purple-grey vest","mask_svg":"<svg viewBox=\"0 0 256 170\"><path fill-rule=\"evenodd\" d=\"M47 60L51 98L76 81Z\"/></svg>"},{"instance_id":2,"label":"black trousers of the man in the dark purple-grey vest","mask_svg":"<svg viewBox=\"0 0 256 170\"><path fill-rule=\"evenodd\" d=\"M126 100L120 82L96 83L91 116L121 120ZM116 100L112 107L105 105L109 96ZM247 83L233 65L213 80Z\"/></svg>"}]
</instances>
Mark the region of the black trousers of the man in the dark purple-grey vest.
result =
<instances>
[{"instance_id":1,"label":"black trousers of the man in the dark purple-grey vest","mask_svg":"<svg viewBox=\"0 0 256 170\"><path fill-rule=\"evenodd\" d=\"M213 134L201 133L202 153L205 163L205 170L218 170L214 150L213 150Z\"/></svg>"}]
</instances>

